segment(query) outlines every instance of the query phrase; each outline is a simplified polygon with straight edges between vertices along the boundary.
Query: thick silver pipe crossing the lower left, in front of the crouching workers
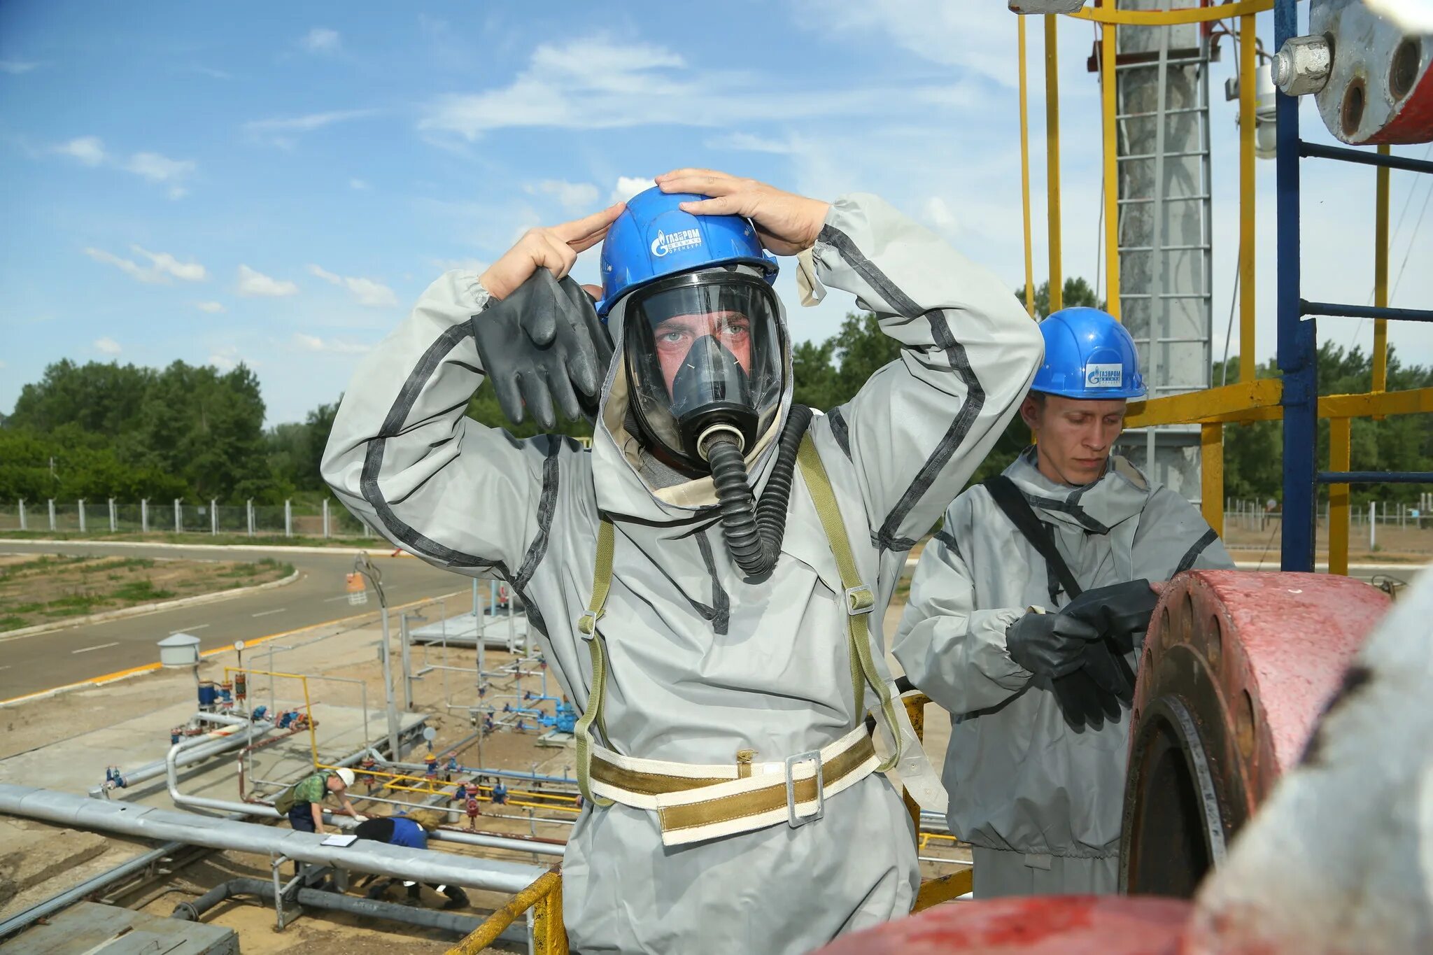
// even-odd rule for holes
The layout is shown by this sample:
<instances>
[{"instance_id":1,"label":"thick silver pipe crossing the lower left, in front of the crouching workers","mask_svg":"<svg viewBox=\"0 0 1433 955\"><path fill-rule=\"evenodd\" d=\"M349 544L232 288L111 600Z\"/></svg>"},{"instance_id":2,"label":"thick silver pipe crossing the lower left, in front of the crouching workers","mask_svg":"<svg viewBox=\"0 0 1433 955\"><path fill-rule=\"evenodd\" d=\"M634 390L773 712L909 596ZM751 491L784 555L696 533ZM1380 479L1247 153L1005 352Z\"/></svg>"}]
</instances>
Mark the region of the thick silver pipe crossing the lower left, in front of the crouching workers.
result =
<instances>
[{"instance_id":1,"label":"thick silver pipe crossing the lower left, in front of the crouching workers","mask_svg":"<svg viewBox=\"0 0 1433 955\"><path fill-rule=\"evenodd\" d=\"M241 812L259 809L261 806L239 805ZM262 809L278 815L272 808ZM0 783L0 812L77 829L102 829L209 849L284 855L314 865L490 892L520 892L547 871L545 866L408 849L370 839L360 839L348 846L325 846L324 836L311 832L214 819L125 802L105 802L9 783Z\"/></svg>"}]
</instances>

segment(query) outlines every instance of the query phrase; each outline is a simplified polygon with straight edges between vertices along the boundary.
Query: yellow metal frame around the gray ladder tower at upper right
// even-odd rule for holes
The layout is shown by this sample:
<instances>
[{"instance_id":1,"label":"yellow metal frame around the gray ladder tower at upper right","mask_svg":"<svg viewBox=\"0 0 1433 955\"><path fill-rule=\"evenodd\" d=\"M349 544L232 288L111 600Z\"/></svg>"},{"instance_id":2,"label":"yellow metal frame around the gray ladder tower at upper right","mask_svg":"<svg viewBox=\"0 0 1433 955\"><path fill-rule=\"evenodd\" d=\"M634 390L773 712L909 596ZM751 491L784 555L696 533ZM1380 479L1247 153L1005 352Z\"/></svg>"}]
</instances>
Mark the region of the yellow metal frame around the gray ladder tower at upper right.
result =
<instances>
[{"instance_id":1,"label":"yellow metal frame around the gray ladder tower at upper right","mask_svg":"<svg viewBox=\"0 0 1433 955\"><path fill-rule=\"evenodd\" d=\"M1101 132L1103 139L1102 178L1105 192L1105 259L1109 262L1105 296L1108 309L1121 318L1119 301L1119 176L1116 168L1118 105L1115 97L1115 60L1118 27L1161 27L1215 20L1237 20L1240 40L1240 381L1232 385L1208 388L1182 395L1131 402L1125 425L1144 428L1166 424L1198 424L1202 452L1201 495L1204 518L1217 533L1224 533L1224 425L1228 422L1275 421L1283 418L1283 382L1277 378L1255 378L1255 279L1254 279L1254 94L1257 36L1255 16L1274 9L1274 0L1238 0L1209 7L1184 10L1116 10L1112 3L1085 7L1070 16L1099 24L1101 31ZM1050 311L1060 308L1063 275L1060 273L1060 169L1059 169L1059 52L1056 50L1056 17L1045 17L1045 136L1046 190L1050 205ZM1020 180L1025 202L1025 288L1026 308L1033 314L1035 278L1032 275L1030 232L1030 169L1029 116L1026 103L1026 36L1020 17L1017 44L1020 62ZM1387 146L1379 147L1387 153ZM1389 304L1389 170L1376 173L1376 235L1374 235L1374 305ZM1433 388L1387 391L1389 334L1387 321L1373 324L1373 388L1360 395L1326 395L1318 399L1318 417L1330 422L1330 470L1350 470L1351 418L1383 418L1399 414L1433 412ZM1348 485L1328 487L1328 568L1330 573L1348 571Z\"/></svg>"}]
</instances>

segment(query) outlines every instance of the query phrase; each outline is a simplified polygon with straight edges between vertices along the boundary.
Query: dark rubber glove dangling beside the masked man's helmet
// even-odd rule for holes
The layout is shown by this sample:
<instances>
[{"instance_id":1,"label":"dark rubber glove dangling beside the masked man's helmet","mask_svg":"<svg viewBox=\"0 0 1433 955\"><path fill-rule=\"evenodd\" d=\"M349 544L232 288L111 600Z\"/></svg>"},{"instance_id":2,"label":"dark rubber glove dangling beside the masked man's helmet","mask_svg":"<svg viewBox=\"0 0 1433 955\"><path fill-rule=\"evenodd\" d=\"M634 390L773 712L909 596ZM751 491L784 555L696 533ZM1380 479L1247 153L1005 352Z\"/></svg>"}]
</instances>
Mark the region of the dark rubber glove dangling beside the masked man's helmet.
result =
<instances>
[{"instance_id":1,"label":"dark rubber glove dangling beside the masked man's helmet","mask_svg":"<svg viewBox=\"0 0 1433 955\"><path fill-rule=\"evenodd\" d=\"M543 428L595 418L612 339L592 299L570 278L537 269L507 298L473 316L473 338L497 404L513 424L532 412Z\"/></svg>"}]
</instances>

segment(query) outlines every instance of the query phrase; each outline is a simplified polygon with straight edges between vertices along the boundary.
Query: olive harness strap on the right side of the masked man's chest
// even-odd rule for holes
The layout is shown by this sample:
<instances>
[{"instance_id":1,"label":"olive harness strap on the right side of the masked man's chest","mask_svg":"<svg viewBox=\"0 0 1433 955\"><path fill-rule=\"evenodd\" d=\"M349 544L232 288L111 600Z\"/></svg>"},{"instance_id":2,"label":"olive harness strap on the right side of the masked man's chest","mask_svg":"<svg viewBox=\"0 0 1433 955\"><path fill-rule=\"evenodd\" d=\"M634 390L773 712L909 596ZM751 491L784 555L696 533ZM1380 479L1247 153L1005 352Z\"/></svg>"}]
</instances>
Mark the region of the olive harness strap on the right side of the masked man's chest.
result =
<instances>
[{"instance_id":1,"label":"olive harness strap on the right side of the masked man's chest","mask_svg":"<svg viewBox=\"0 0 1433 955\"><path fill-rule=\"evenodd\" d=\"M870 616L876 607L876 593L861 583L861 574L856 568L856 556L851 553L851 541L845 534L845 523L841 520L841 508L835 503L835 491L831 490L831 478L827 477L825 465L821 464L821 455L817 454L810 431L801 438L797 465L801 468L801 480L805 481L811 500L815 503L815 513L821 518L821 527L825 530L827 543L835 556L835 566L841 574L841 587L845 588L845 637L851 653L856 724L860 726L866 719L866 684L870 683L881 700L881 717L886 720L886 729L890 730L894 742L894 752L876 767L876 772L884 773L900 759L901 726L896 716L891 687L881 680L871 656Z\"/></svg>"}]
</instances>

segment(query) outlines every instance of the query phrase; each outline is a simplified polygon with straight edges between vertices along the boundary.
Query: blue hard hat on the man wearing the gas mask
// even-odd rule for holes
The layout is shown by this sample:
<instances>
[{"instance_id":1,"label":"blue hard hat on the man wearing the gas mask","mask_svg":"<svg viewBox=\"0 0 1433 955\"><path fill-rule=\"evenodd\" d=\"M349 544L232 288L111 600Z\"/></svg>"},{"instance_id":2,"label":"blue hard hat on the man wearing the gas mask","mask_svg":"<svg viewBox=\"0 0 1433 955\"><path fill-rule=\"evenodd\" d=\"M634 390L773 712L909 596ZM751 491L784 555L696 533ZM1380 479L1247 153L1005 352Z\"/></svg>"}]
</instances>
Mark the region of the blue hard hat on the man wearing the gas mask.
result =
<instances>
[{"instance_id":1,"label":"blue hard hat on the man wearing the gas mask","mask_svg":"<svg viewBox=\"0 0 1433 955\"><path fill-rule=\"evenodd\" d=\"M694 216L681 202L706 199L656 186L628 199L628 208L602 241L602 301L606 321L618 299L656 279L679 272L744 262L777 278L777 261L761 248L757 228L741 216Z\"/></svg>"}]
</instances>

